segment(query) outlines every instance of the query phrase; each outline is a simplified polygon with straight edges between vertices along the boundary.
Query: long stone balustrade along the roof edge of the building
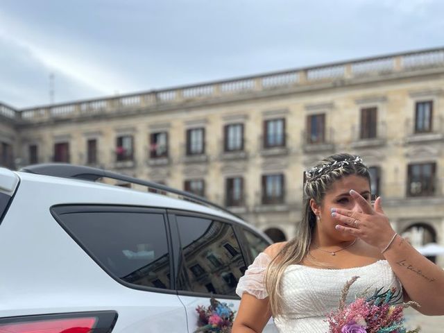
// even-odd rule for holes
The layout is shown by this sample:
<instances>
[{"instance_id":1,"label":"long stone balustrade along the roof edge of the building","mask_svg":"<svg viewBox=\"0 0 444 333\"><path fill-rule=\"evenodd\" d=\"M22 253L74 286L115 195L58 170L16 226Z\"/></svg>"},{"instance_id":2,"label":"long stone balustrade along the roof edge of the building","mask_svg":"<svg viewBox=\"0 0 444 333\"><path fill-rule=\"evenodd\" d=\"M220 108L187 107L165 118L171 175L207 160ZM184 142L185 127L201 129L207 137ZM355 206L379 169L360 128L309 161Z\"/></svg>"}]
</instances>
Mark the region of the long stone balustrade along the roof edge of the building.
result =
<instances>
[{"instance_id":1,"label":"long stone balustrade along the roof edge of the building","mask_svg":"<svg viewBox=\"0 0 444 333\"><path fill-rule=\"evenodd\" d=\"M10 118L19 117L22 121L42 121L51 118L82 117L98 113L124 113L134 108L156 108L158 105L174 105L184 101L200 101L203 99L220 99L240 94L268 92L277 88L334 83L337 80L362 79L374 76L384 78L384 76L401 72L413 73L418 70L436 68L444 68L444 48L395 53L388 56L153 90L119 97L112 96L104 99L46 105L38 108L27 108L19 112L6 105L0 105L0 114ZM15 114L18 114L18 116Z\"/></svg>"}]
</instances>

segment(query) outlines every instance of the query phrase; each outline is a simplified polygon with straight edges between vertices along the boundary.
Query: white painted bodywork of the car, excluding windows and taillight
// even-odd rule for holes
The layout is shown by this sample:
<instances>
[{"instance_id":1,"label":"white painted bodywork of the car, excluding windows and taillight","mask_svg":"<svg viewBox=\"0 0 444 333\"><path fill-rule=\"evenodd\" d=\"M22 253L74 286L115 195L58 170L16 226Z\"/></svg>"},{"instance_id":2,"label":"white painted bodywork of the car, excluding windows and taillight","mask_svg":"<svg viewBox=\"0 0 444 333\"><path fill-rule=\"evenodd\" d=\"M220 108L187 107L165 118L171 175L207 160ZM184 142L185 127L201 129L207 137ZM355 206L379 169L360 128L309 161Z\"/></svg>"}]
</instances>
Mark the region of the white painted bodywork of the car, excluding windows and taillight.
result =
<instances>
[{"instance_id":1,"label":"white painted bodywork of the car, excluding windows and taillight","mask_svg":"<svg viewBox=\"0 0 444 333\"><path fill-rule=\"evenodd\" d=\"M174 292L137 290L120 284L63 230L51 215L49 207L53 205L191 210L250 228L228 213L185 200L82 180L15 175L21 180L19 195L0 225L0 317L114 310L119 318L113 333L192 333L196 330L196 306L210 304L210 298L179 297ZM12 182L11 173L7 176ZM62 250L54 250L58 248ZM239 300L219 300L233 303L236 310L239 307ZM267 328L264 332L277 331Z\"/></svg>"}]
</instances>

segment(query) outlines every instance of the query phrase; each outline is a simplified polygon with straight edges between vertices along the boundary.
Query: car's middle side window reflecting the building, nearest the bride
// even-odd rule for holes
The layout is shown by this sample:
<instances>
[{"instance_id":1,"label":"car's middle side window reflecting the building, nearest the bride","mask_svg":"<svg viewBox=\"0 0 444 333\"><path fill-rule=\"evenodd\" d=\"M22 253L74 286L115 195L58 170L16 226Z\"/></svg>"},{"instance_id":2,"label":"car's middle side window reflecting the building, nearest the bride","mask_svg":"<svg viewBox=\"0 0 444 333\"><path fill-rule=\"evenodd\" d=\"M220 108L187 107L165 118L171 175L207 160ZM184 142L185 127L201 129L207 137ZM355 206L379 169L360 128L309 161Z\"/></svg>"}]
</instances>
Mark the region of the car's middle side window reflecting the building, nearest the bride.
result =
<instances>
[{"instance_id":1,"label":"car's middle side window reflecting the building, nearest the bride","mask_svg":"<svg viewBox=\"0 0 444 333\"><path fill-rule=\"evenodd\" d=\"M235 296L246 264L232 225L195 216L176 216L187 282L178 289Z\"/></svg>"}]
</instances>

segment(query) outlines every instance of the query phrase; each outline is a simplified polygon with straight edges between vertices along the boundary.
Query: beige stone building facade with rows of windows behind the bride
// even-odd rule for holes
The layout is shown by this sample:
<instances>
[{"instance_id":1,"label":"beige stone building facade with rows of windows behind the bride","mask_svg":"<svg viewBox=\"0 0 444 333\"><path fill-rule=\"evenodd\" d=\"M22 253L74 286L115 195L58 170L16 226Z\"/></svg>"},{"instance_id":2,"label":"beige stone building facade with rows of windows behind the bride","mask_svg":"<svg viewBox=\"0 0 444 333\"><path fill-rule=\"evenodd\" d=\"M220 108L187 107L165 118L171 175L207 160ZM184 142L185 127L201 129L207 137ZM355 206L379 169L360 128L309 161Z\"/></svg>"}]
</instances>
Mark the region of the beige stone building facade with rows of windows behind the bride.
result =
<instances>
[{"instance_id":1,"label":"beige stone building facade with rows of windows behind the bride","mask_svg":"<svg viewBox=\"0 0 444 333\"><path fill-rule=\"evenodd\" d=\"M372 167L395 230L444 246L444 49L15 110L0 162L86 164L193 191L276 239L295 236L302 173Z\"/></svg>"}]
</instances>

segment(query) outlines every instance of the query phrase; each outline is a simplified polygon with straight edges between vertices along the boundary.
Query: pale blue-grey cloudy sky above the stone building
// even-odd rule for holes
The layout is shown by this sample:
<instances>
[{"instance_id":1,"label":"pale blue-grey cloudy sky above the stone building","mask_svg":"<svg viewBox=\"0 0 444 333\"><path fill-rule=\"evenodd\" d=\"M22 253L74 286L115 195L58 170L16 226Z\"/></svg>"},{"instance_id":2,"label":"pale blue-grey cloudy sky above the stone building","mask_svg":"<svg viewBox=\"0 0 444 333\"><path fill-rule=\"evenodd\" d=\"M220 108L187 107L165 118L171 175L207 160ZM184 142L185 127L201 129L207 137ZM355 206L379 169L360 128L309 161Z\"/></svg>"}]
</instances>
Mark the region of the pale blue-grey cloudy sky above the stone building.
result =
<instances>
[{"instance_id":1,"label":"pale blue-grey cloudy sky above the stone building","mask_svg":"<svg viewBox=\"0 0 444 333\"><path fill-rule=\"evenodd\" d=\"M1 0L16 108L444 46L442 0Z\"/></svg>"}]
</instances>

